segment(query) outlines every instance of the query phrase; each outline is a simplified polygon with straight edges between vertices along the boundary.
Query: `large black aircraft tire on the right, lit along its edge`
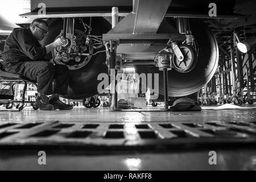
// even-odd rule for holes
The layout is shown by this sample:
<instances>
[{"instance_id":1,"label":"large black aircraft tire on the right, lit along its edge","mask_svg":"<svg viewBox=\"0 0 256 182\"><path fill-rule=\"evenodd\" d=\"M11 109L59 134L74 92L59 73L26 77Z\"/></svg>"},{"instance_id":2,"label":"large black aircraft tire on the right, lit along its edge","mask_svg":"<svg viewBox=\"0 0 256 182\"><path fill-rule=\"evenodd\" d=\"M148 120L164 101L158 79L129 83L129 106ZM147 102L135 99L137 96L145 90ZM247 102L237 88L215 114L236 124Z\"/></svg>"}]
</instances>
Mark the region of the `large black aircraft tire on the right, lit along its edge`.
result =
<instances>
[{"instance_id":1,"label":"large black aircraft tire on the right, lit along its edge","mask_svg":"<svg viewBox=\"0 0 256 182\"><path fill-rule=\"evenodd\" d=\"M212 32L205 26L205 23L196 18L189 18L189 25L192 35L199 45L197 64L188 73L179 73L174 69L168 72L168 96L170 97L182 97L197 92L210 81L218 65L218 44ZM153 77L154 73L158 73L159 94L163 95L162 71L159 71L156 67L152 67L152 65L137 65L135 69L139 74L153 73ZM152 85L154 86L154 82Z\"/></svg>"}]
</instances>

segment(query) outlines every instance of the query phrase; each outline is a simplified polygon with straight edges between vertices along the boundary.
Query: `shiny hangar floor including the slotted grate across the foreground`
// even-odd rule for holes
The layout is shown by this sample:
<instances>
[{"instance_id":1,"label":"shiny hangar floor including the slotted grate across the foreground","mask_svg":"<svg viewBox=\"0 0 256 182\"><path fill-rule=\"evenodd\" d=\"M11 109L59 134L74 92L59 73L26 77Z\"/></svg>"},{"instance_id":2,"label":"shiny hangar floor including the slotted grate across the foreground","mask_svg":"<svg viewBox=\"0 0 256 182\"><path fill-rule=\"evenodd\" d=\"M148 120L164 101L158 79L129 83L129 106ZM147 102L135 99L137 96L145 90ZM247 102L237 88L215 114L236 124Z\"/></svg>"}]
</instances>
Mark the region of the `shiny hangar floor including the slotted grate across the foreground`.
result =
<instances>
[{"instance_id":1,"label":"shiny hangar floor including the slotted grate across the foreground","mask_svg":"<svg viewBox=\"0 0 256 182\"><path fill-rule=\"evenodd\" d=\"M2 107L0 170L255 170L255 106L189 112ZM38 165L39 151L47 165ZM218 165L209 165L211 151Z\"/></svg>"}]
</instances>

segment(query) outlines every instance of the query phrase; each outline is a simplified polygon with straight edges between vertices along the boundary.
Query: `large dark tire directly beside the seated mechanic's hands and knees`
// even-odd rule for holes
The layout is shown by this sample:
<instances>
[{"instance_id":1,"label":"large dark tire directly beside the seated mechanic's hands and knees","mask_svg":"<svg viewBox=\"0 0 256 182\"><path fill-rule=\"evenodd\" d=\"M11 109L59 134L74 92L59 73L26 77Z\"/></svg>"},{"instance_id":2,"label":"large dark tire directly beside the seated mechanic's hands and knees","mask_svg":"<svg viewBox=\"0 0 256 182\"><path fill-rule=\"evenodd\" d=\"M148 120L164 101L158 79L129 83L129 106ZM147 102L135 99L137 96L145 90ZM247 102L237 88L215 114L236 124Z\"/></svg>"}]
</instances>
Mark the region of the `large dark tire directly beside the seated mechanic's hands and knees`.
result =
<instances>
[{"instance_id":1,"label":"large dark tire directly beside the seated mechanic's hands and knees","mask_svg":"<svg viewBox=\"0 0 256 182\"><path fill-rule=\"evenodd\" d=\"M84 30L78 20L75 20L75 29ZM42 41L42 46L46 46L52 43L55 38L60 34L60 30L63 28L62 18L51 18L47 20L49 24L49 33ZM84 18L84 22L89 24L89 17ZM101 35L107 33L111 29L111 24L102 17L92 17L92 35ZM104 51L105 47L98 49L98 51ZM52 58L51 53L47 55L48 59ZM106 61L106 53L101 52L92 56L89 63L84 67L76 70L69 71L69 85L68 93L64 98L69 99L83 99L98 94L97 86L101 80L97 80L100 73L108 74L108 67L104 64ZM110 83L110 80L109 80Z\"/></svg>"}]
</instances>

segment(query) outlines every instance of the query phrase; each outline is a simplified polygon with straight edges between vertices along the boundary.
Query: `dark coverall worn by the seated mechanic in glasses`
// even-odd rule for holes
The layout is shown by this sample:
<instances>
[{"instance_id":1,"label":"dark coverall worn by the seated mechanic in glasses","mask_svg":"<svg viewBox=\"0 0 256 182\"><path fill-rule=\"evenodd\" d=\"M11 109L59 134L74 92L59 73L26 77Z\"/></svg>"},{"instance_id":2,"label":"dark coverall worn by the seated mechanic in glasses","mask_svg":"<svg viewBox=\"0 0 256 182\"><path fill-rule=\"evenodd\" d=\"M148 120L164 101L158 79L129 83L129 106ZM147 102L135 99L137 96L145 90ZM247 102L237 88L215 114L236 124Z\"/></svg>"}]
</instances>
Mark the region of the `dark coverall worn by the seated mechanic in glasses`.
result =
<instances>
[{"instance_id":1,"label":"dark coverall worn by the seated mechanic in glasses","mask_svg":"<svg viewBox=\"0 0 256 182\"><path fill-rule=\"evenodd\" d=\"M15 28L5 41L3 69L35 80L40 94L67 94L68 67L53 65L44 56L46 47L41 46L29 27Z\"/></svg>"}]
</instances>

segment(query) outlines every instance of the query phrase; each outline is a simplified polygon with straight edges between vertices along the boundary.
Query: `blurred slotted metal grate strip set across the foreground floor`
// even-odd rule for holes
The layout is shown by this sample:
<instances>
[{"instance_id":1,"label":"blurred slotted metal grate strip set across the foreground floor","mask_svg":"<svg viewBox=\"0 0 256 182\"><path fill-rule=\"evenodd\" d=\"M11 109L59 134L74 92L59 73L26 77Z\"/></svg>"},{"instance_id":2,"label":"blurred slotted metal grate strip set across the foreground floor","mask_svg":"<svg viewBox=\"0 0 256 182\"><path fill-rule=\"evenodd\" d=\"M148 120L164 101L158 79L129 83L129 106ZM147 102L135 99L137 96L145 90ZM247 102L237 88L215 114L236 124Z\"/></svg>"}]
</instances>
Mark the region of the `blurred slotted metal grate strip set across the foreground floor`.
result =
<instances>
[{"instance_id":1,"label":"blurred slotted metal grate strip set across the foreground floor","mask_svg":"<svg viewBox=\"0 0 256 182\"><path fill-rule=\"evenodd\" d=\"M255 122L2 123L0 146L202 146L256 143ZM216 146L216 145L214 145ZM241 145L240 145L241 146ZM116 148L115 148L116 149Z\"/></svg>"}]
</instances>

